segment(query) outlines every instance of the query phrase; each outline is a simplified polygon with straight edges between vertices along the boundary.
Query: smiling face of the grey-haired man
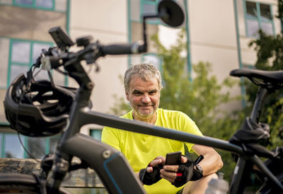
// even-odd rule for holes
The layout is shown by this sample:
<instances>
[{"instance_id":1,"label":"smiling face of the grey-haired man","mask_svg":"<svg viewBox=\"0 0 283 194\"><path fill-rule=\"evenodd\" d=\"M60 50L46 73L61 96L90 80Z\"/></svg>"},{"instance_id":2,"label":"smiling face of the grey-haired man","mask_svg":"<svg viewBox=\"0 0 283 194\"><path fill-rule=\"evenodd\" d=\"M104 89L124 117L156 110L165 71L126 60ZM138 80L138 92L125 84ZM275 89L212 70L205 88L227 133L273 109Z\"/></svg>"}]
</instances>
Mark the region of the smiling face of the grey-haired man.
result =
<instances>
[{"instance_id":1,"label":"smiling face of the grey-haired man","mask_svg":"<svg viewBox=\"0 0 283 194\"><path fill-rule=\"evenodd\" d=\"M133 76L126 97L134 110L135 120L151 118L159 105L160 91L156 78L144 81Z\"/></svg>"}]
</instances>

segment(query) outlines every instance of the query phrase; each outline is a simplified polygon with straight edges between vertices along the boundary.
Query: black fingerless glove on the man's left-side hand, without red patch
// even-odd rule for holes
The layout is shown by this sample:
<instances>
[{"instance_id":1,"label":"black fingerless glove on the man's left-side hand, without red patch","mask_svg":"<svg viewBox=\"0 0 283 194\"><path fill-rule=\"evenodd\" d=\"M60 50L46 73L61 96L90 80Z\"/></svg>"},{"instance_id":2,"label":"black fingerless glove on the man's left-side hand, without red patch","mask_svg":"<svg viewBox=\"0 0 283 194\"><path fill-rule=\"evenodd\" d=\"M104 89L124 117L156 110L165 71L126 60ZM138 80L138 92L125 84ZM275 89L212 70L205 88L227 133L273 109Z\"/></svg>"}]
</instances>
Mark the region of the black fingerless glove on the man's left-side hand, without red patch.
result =
<instances>
[{"instance_id":1,"label":"black fingerless glove on the man's left-side hand, without red patch","mask_svg":"<svg viewBox=\"0 0 283 194\"><path fill-rule=\"evenodd\" d=\"M150 167L149 164L147 167ZM151 186L154 183L157 183L161 177L160 177L160 170L163 169L163 164L158 164L157 166L151 166L154 171L151 173L148 173L146 169L141 169L139 171L139 179L141 180L144 185Z\"/></svg>"}]
</instances>

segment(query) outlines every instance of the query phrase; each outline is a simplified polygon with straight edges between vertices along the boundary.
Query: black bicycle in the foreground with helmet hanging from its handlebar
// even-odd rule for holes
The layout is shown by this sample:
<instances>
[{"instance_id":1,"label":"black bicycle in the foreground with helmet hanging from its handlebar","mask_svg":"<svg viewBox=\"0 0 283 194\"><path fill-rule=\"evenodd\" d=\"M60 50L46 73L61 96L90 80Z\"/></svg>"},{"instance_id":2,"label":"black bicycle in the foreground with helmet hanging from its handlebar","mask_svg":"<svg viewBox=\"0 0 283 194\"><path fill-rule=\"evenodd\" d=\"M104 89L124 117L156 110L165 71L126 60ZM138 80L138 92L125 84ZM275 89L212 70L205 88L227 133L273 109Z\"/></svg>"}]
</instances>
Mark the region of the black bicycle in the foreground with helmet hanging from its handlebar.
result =
<instances>
[{"instance_id":1,"label":"black bicycle in the foreground with helmet hanging from its handlebar","mask_svg":"<svg viewBox=\"0 0 283 194\"><path fill-rule=\"evenodd\" d=\"M0 174L0 192L21 193L67 193L61 183L69 171L91 168L96 171L109 193L145 193L141 182L134 175L125 156L117 150L80 133L83 125L97 124L115 127L131 132L154 135L169 139L202 144L231 152L237 156L237 165L229 193L243 193L245 177L253 171L253 166L262 179L259 193L283 191L283 171L274 171L270 166L282 166L282 152L271 152L258 145L258 140L268 138L268 127L259 123L262 105L269 93L283 87L283 72L264 72L252 69L236 69L232 76L245 76L260 86L253 111L230 142L212 137L199 137L144 122L126 120L91 110L90 96L93 83L81 65L81 61L93 64L98 57L105 55L130 55L146 52L146 19L160 17L167 25L178 26L183 23L184 14L175 1L161 1L158 16L144 16L144 42L122 45L100 45L91 42L90 37L79 38L76 45L79 52L68 52L74 42L61 28L50 29L57 47L42 51L34 67L57 69L64 67L79 84L79 89L57 86L52 81L35 81L33 68L27 76L19 75L9 86L4 101L6 118L11 127L22 135L47 137L62 133L55 154L42 159L38 175ZM260 79L261 81L258 81ZM255 81L256 80L256 81ZM35 102L37 105L34 105ZM241 137L247 137L242 139ZM81 149L83 147L83 149ZM80 164L71 164L76 156ZM259 157L267 158L263 162ZM119 166L119 168L117 168ZM122 177L121 177L122 175Z\"/></svg>"}]
</instances>

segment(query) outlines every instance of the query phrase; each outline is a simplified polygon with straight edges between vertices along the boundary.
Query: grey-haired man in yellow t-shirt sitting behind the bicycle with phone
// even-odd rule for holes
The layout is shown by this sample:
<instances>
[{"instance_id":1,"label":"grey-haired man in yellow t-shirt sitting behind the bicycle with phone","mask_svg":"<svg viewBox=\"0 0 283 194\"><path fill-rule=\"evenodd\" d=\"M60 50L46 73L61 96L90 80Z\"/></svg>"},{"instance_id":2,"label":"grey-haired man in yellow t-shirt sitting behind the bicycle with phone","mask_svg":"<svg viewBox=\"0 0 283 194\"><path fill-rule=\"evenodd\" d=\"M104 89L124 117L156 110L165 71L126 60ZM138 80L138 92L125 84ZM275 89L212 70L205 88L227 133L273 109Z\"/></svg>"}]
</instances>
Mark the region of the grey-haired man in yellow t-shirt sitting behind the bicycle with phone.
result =
<instances>
[{"instance_id":1,"label":"grey-haired man in yellow t-shirt sitting behind the bicycle with phone","mask_svg":"<svg viewBox=\"0 0 283 194\"><path fill-rule=\"evenodd\" d=\"M124 76L126 98L132 110L122 118L202 136L185 113L158 108L161 74L152 64L136 64ZM104 127L102 141L119 150L144 183L148 193L204 193L211 178L223 166L221 156L211 147L185 143L189 152L202 155L198 164L182 156L180 165L165 165L166 154L180 151L183 142Z\"/></svg>"}]
</instances>

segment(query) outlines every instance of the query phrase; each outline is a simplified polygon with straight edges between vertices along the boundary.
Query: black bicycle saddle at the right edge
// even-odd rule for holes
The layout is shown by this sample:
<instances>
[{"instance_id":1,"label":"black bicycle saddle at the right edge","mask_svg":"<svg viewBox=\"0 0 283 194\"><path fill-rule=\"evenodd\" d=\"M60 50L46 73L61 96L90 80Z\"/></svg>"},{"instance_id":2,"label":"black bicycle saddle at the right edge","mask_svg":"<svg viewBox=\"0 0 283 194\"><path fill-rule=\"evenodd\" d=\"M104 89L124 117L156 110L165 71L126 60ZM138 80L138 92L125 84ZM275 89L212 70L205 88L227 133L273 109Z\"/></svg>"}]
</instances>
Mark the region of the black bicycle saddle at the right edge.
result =
<instances>
[{"instance_id":1,"label":"black bicycle saddle at the right edge","mask_svg":"<svg viewBox=\"0 0 283 194\"><path fill-rule=\"evenodd\" d=\"M255 84L283 84L283 71L263 71L258 69L234 69L231 76L245 76ZM255 81L261 79L262 81Z\"/></svg>"}]
</instances>

